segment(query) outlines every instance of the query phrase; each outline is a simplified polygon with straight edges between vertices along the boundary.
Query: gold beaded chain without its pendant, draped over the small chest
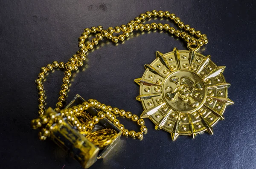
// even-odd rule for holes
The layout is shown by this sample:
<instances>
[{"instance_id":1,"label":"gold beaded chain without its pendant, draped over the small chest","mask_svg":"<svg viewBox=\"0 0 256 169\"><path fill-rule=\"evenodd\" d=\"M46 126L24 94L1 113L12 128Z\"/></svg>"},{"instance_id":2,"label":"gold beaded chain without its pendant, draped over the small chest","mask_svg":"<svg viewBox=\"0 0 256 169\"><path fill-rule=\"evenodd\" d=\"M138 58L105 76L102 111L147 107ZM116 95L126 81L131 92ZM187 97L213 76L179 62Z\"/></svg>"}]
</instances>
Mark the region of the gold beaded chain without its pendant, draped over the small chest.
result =
<instances>
[{"instance_id":1,"label":"gold beaded chain without its pendant, draped over the small chest","mask_svg":"<svg viewBox=\"0 0 256 169\"><path fill-rule=\"evenodd\" d=\"M163 25L162 23L151 23L144 25L141 23L143 20L150 17L169 18L175 24L177 24L178 28L182 29L183 31L175 30L175 28L170 27L169 24ZM114 28L109 27L107 30L103 29L102 26L84 29L81 37L79 37L78 39L78 47L80 48L79 51L77 51L76 54L74 54L67 63L58 63L57 61L54 61L51 64L47 64L46 67L41 67L40 73L38 74L38 79L35 80L39 96L38 113L40 116L38 119L32 120L32 127L36 129L40 128L42 124L45 124L45 128L41 129L41 132L39 132L39 138L41 140L45 140L49 136L50 130L54 129L53 124L62 123L63 120L68 120L70 123L73 124L73 126L76 126L79 131L87 131L93 128L94 124L99 122L99 119L103 119L104 117L106 117L122 130L122 135L142 139L143 133L147 132L147 127L145 126L143 119L140 119L137 115L133 115L131 112L125 112L124 110L119 110L117 108L112 108L111 106L106 106L105 104L99 103L97 100L93 99L90 99L82 103L81 105L74 106L72 108L62 108L64 106L65 97L69 88L68 84L70 83L70 77L72 75L72 72L83 66L83 61L86 59L85 54L89 50L92 50L93 47L96 46L99 41L103 39L103 37L111 40L113 43L118 43L124 41L125 38L128 38L133 31L150 31L155 29L159 31L164 30L166 32L169 32L170 34L174 34L176 37L180 37L181 39L185 40L190 50L198 51L201 46L208 43L208 39L205 34L201 34L200 31L196 31L194 28L190 28L189 25L185 25L183 22L180 21L179 17L176 17L175 14L171 14L169 11L147 11L145 12L145 14L140 14L139 17L135 17L134 20L131 20L126 25L121 25L120 27L116 26ZM122 33L119 34L120 32ZM117 35L114 36L114 33L116 33ZM91 40L91 42L87 43L86 40L89 35L95 35L95 37ZM192 48L192 46L196 47ZM58 68L65 71L65 77L63 78L63 84L61 86L62 89L59 92L60 97L58 97L58 103L56 103L56 108L54 109L55 112L58 112L58 114L44 115L45 93L42 83L44 78L47 76L47 72ZM102 111L100 111L98 115L94 116L93 120L90 120L85 124L81 124L79 120L75 117L75 113L87 110L89 107L101 109ZM119 120L116 119L116 115L126 117L134 122L137 122L137 124L140 126L140 132L135 132L133 130L129 131L128 129L125 129L124 125L122 125Z\"/></svg>"}]
</instances>

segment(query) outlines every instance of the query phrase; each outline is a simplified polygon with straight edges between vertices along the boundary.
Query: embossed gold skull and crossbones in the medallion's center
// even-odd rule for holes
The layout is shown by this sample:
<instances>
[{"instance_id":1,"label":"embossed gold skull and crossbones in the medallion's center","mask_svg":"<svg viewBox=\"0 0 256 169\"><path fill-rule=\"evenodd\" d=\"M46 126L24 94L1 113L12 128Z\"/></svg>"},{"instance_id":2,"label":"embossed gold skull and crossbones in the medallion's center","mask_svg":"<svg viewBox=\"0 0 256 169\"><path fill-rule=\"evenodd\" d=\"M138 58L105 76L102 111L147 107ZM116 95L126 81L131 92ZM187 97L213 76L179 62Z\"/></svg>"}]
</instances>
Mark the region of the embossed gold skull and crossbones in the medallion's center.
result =
<instances>
[{"instance_id":1,"label":"embossed gold skull and crossbones in the medallion's center","mask_svg":"<svg viewBox=\"0 0 256 169\"><path fill-rule=\"evenodd\" d=\"M199 82L194 83L189 77L179 78L177 76L171 77L170 81L175 83L177 87L174 90L171 87L171 92L166 93L166 97L169 100L175 100L179 97L183 101L188 101L192 107L199 106L199 102L192 98L194 91L203 90L203 87Z\"/></svg>"}]
</instances>

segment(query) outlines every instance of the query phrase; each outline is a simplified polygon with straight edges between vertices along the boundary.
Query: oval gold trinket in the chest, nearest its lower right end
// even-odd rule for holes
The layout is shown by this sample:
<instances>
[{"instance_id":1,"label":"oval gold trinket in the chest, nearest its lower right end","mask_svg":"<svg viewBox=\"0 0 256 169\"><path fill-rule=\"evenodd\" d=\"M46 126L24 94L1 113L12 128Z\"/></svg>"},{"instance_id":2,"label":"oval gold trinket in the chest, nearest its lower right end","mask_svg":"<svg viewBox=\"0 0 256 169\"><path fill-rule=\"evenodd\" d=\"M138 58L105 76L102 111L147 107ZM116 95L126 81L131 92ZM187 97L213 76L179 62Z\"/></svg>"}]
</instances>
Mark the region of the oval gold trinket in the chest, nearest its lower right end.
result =
<instances>
[{"instance_id":1,"label":"oval gold trinket in the chest, nearest its lower right end","mask_svg":"<svg viewBox=\"0 0 256 169\"><path fill-rule=\"evenodd\" d=\"M105 148L111 144L117 136L117 132L114 129L101 129L96 132L92 132L87 135L87 139L90 140L95 146L98 146L100 149Z\"/></svg>"}]
</instances>

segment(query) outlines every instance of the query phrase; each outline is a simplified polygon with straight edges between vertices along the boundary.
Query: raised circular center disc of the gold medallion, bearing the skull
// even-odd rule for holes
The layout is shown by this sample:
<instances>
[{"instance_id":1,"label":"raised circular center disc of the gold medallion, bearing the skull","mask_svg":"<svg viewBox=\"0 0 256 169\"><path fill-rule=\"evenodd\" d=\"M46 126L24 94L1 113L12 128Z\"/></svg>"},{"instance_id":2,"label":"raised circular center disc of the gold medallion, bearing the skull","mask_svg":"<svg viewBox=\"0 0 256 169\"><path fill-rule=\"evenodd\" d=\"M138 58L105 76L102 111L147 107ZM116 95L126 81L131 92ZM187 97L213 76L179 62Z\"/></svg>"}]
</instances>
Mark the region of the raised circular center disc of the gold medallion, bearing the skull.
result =
<instances>
[{"instance_id":1,"label":"raised circular center disc of the gold medallion, bearing the skull","mask_svg":"<svg viewBox=\"0 0 256 169\"><path fill-rule=\"evenodd\" d=\"M166 103L179 112L194 112L206 98L204 81L198 74L180 70L170 74L163 83Z\"/></svg>"}]
</instances>

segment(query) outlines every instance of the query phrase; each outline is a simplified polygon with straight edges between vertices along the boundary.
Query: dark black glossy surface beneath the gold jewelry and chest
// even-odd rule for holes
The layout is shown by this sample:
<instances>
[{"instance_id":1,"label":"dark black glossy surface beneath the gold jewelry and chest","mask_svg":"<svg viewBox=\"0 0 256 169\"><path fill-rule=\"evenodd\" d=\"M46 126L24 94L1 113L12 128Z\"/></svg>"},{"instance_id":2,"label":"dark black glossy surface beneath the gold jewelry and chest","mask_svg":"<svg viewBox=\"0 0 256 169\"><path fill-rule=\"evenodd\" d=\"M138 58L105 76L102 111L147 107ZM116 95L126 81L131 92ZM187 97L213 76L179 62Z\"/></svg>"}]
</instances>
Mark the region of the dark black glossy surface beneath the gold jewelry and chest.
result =
<instances>
[{"instance_id":1,"label":"dark black glossy surface beneath the gold jewelry and chest","mask_svg":"<svg viewBox=\"0 0 256 169\"><path fill-rule=\"evenodd\" d=\"M153 9L170 11L202 33L209 43L200 51L211 54L231 83L225 120L214 126L214 135L180 136L173 142L145 119L148 134L142 141L122 137L118 146L95 169L254 169L256 168L256 12L253 0L16 0L0 1L0 168L79 169L80 164L58 149L51 140L40 141L30 121L38 117L34 80L42 66L67 62L77 50L84 28L120 26ZM157 23L170 23L154 20ZM149 21L149 23L151 23ZM172 23L171 23L172 25ZM76 73L67 102L76 94L94 98L140 115L135 100L144 64L155 52L167 53L186 44L169 34L133 34L117 46L102 43L87 55ZM55 106L63 72L47 77L47 107ZM137 128L126 122L128 129Z\"/></svg>"}]
</instances>

